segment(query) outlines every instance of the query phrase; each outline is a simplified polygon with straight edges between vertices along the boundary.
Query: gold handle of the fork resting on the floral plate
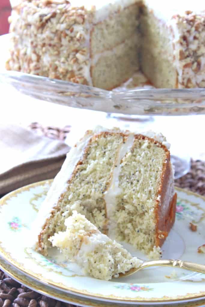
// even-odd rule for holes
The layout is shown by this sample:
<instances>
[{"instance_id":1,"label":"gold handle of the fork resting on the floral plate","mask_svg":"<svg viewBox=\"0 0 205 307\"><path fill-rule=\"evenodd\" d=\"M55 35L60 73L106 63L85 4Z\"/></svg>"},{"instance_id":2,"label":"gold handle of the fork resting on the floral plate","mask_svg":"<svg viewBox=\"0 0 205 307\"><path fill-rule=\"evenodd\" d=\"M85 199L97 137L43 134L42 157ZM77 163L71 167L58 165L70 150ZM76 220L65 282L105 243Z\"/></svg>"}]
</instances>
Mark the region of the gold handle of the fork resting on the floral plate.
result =
<instances>
[{"instance_id":1,"label":"gold handle of the fork resting on the floral plate","mask_svg":"<svg viewBox=\"0 0 205 307\"><path fill-rule=\"evenodd\" d=\"M148 266L172 266L179 267L181 269L191 270L199 273L205 273L205 265L198 264L189 261L183 261L179 259L161 259L161 260L150 260L145 261L141 267Z\"/></svg>"}]
</instances>

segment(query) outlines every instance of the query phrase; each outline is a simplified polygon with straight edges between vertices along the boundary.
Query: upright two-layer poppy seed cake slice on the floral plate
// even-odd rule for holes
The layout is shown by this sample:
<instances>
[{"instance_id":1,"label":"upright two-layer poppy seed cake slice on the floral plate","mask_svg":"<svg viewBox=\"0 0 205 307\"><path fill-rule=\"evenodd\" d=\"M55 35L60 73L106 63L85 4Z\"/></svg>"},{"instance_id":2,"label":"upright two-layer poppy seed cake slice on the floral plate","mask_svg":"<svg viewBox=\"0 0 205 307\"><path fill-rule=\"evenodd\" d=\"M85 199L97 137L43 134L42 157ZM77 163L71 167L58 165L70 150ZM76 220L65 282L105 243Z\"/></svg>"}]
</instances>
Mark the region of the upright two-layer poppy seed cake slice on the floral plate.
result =
<instances>
[{"instance_id":1,"label":"upright two-layer poppy seed cake slice on the floral plate","mask_svg":"<svg viewBox=\"0 0 205 307\"><path fill-rule=\"evenodd\" d=\"M47 255L49 238L65 231L76 210L110 238L159 254L175 221L168 147L152 132L88 130L67 154L39 210L37 250Z\"/></svg>"}]
</instances>

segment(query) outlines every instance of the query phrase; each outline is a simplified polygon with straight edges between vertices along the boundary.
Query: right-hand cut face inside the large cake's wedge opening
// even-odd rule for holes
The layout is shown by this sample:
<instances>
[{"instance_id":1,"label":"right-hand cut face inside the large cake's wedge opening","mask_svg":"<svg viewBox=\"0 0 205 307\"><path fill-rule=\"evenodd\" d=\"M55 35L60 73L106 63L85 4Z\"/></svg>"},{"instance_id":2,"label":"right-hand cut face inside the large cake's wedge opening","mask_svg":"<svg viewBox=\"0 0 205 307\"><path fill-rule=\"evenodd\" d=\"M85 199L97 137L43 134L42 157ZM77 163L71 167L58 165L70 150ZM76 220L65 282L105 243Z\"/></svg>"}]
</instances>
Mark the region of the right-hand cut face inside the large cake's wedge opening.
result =
<instances>
[{"instance_id":1,"label":"right-hand cut face inside the large cake's wedge opening","mask_svg":"<svg viewBox=\"0 0 205 307\"><path fill-rule=\"evenodd\" d=\"M144 6L140 22L140 67L155 87L178 87L177 70L173 65L172 35L168 25Z\"/></svg>"}]
</instances>

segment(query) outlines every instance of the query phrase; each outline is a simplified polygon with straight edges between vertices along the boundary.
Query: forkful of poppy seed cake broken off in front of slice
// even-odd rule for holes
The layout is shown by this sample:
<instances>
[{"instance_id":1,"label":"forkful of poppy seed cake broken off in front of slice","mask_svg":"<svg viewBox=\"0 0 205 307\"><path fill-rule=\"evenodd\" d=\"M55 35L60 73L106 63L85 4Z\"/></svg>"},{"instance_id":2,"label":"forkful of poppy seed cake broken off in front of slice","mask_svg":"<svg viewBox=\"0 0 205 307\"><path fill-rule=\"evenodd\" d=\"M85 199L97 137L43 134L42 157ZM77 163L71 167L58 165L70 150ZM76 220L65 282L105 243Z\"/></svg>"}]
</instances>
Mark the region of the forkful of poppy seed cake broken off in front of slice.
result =
<instances>
[{"instance_id":1,"label":"forkful of poppy seed cake broken off in front of slice","mask_svg":"<svg viewBox=\"0 0 205 307\"><path fill-rule=\"evenodd\" d=\"M139 259L102 234L77 211L73 211L73 215L65 220L65 226L65 231L55 233L49 241L69 261L81 266L85 274L109 280L140 265Z\"/></svg>"}]
</instances>

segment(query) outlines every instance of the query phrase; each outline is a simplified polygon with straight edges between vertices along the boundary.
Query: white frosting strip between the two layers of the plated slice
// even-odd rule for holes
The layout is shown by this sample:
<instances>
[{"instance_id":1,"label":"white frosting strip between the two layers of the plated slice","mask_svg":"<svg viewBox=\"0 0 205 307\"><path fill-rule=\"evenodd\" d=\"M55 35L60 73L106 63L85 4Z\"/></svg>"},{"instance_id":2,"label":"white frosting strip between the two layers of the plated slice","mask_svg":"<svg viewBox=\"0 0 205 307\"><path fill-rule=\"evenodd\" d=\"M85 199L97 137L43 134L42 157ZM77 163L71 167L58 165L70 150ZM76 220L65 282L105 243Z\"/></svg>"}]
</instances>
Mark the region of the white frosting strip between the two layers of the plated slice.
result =
<instances>
[{"instance_id":1,"label":"white frosting strip between the two layers of the plated slice","mask_svg":"<svg viewBox=\"0 0 205 307\"><path fill-rule=\"evenodd\" d=\"M108 235L114 238L115 235L115 224L112 223L112 216L116 212L116 196L121 193L119 188L119 175L120 175L120 161L128 153L134 142L134 134L129 134L125 143L121 144L118 152L117 161L112 173L112 180L108 190L104 193L104 200L106 202L107 218L109 220ZM111 223L110 223L111 222Z\"/></svg>"}]
</instances>

